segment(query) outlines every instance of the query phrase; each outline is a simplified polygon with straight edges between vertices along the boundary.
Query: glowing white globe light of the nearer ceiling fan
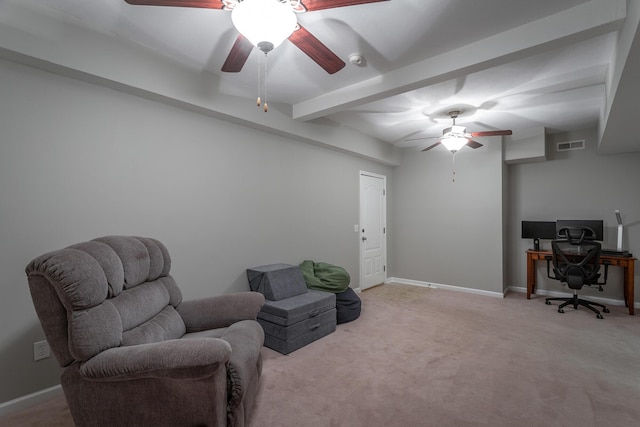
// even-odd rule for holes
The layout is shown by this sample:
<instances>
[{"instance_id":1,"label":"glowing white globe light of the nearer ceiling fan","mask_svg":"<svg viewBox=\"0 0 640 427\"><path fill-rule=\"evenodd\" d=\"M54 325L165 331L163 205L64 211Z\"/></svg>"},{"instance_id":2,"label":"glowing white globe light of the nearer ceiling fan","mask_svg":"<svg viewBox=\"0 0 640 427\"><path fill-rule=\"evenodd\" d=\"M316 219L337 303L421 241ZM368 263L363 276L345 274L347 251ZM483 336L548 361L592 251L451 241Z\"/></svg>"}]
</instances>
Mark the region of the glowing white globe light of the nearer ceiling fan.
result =
<instances>
[{"instance_id":1,"label":"glowing white globe light of the nearer ceiling fan","mask_svg":"<svg viewBox=\"0 0 640 427\"><path fill-rule=\"evenodd\" d=\"M278 47L296 29L298 21L289 2L243 0L231 12L240 34L263 52Z\"/></svg>"}]
</instances>

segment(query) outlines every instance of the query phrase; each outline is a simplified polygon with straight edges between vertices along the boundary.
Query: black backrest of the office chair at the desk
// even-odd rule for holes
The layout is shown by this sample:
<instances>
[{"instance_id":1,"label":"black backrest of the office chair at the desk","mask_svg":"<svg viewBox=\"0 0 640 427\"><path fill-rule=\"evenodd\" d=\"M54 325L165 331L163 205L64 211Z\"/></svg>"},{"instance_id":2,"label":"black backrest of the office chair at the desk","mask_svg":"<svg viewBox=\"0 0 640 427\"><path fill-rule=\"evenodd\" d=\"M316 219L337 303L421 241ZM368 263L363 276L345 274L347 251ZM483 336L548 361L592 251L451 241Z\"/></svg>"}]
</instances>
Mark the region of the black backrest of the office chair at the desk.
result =
<instances>
[{"instance_id":1,"label":"black backrest of the office chair at the desk","mask_svg":"<svg viewBox=\"0 0 640 427\"><path fill-rule=\"evenodd\" d=\"M599 242L593 240L595 233L588 228L563 228L560 238L551 242L553 271L556 278L571 289L595 284L600 277Z\"/></svg>"}]
</instances>

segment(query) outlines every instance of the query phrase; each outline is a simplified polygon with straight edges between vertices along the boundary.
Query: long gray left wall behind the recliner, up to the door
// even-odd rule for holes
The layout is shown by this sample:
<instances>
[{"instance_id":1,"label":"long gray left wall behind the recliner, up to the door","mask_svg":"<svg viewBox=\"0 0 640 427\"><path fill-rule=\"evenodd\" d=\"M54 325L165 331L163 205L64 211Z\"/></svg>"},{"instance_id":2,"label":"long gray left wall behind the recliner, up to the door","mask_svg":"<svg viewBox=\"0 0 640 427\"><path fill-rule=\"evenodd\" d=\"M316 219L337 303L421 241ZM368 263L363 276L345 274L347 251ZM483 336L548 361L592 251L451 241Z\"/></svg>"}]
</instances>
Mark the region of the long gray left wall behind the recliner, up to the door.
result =
<instances>
[{"instance_id":1,"label":"long gray left wall behind the recliner, up to the door","mask_svg":"<svg viewBox=\"0 0 640 427\"><path fill-rule=\"evenodd\" d=\"M24 267L106 234L153 236L186 299L247 267L341 265L358 286L359 171L391 169L0 60L0 402L58 384Z\"/></svg>"}]
</instances>

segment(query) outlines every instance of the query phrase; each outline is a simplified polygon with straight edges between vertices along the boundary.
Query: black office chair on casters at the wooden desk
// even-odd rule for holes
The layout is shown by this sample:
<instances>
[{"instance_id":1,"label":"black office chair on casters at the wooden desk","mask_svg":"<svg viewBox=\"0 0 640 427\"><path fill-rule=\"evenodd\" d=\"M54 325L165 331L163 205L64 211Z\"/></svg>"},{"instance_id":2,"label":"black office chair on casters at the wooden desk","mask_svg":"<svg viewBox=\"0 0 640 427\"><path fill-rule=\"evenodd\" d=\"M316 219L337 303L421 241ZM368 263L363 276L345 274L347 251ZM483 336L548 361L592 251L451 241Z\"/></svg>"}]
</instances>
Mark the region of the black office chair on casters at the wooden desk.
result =
<instances>
[{"instance_id":1,"label":"black office chair on casters at the wooden desk","mask_svg":"<svg viewBox=\"0 0 640 427\"><path fill-rule=\"evenodd\" d=\"M596 313L598 319L602 314L595 307L609 313L604 305L578 298L578 290L583 286L597 285L602 292L602 285L607 283L609 271L608 263L604 264L604 278L600 279L600 243L594 241L595 232L589 227L566 227L558 231L558 237L551 241L553 255L547 259L547 276L551 279L566 283L573 289L572 297L547 298L545 304L551 301L564 301L558 306L558 313L564 313L564 307L573 305L574 309L583 306ZM553 264L553 275L550 264ZM595 307L594 307L595 306Z\"/></svg>"}]
</instances>

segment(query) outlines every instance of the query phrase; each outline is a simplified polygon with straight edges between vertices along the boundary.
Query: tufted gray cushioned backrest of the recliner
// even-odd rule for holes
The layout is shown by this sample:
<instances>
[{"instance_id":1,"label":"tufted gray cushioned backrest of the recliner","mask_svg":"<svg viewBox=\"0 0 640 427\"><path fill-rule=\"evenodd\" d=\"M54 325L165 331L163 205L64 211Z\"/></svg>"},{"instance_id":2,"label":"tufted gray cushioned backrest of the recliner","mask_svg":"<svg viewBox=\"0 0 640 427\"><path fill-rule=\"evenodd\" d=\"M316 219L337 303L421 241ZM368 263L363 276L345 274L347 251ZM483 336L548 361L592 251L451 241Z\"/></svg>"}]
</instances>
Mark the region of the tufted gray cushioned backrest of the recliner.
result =
<instances>
[{"instance_id":1,"label":"tufted gray cushioned backrest of the recliner","mask_svg":"<svg viewBox=\"0 0 640 427\"><path fill-rule=\"evenodd\" d=\"M112 347L185 334L182 293L159 241L106 236L35 258L26 268L38 318L60 366Z\"/></svg>"}]
</instances>

